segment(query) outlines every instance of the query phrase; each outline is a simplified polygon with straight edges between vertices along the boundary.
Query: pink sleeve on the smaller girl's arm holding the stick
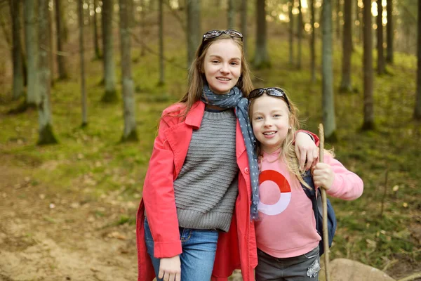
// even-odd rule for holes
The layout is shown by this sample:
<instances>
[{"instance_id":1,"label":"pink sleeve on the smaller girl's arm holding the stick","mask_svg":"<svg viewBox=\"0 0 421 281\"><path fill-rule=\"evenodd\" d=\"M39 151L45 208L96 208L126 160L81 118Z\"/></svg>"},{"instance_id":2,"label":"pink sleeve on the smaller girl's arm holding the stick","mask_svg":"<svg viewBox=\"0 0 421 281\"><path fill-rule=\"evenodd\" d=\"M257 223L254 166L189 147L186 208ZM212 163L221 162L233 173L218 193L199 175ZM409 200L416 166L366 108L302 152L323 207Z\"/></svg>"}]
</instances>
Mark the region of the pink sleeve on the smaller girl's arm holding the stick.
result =
<instances>
[{"instance_id":1,"label":"pink sleeve on the smaller girl's arm holding the stick","mask_svg":"<svg viewBox=\"0 0 421 281\"><path fill-rule=\"evenodd\" d=\"M359 176L347 170L341 162L327 153L324 162L329 164L335 173L332 187L326 190L328 195L343 200L354 200L363 194L363 180Z\"/></svg>"}]
</instances>

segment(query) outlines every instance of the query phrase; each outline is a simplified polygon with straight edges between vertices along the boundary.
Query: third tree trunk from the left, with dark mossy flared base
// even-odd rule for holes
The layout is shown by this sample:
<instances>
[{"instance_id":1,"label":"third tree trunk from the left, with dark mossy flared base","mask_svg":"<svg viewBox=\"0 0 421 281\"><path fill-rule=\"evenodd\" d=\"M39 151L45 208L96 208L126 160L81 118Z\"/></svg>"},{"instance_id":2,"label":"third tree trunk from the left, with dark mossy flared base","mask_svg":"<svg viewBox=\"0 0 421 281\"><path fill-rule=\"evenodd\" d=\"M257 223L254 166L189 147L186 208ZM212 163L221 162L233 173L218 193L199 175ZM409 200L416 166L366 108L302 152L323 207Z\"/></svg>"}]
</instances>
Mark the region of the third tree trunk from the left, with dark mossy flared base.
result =
<instances>
[{"instance_id":1,"label":"third tree trunk from the left, with dark mossy flared base","mask_svg":"<svg viewBox=\"0 0 421 281\"><path fill-rule=\"evenodd\" d=\"M50 46L50 23L48 22L48 0L39 0L39 115L38 145L57 143L51 126L51 77L48 63L48 48Z\"/></svg>"}]
</instances>

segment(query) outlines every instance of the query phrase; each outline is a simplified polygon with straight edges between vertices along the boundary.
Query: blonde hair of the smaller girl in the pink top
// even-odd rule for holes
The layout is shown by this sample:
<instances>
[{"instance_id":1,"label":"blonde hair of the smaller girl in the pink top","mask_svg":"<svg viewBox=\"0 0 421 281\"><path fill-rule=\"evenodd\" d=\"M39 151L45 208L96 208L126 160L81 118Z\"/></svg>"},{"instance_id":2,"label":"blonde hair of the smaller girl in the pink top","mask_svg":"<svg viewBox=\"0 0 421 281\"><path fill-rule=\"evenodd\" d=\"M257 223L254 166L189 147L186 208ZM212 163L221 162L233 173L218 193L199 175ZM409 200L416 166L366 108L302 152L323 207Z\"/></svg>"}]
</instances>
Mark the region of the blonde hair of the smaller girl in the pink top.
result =
<instances>
[{"instance_id":1,"label":"blonde hair of the smaller girl in the pink top","mask_svg":"<svg viewBox=\"0 0 421 281\"><path fill-rule=\"evenodd\" d=\"M283 91L287 93L285 89L283 89ZM267 93L263 93L263 95L267 95ZM282 159L283 162L286 163L286 166L288 167L288 171L290 171L291 174L296 176L298 178L298 181L300 181L300 183L305 185L306 188L310 188L309 185L307 185L307 183L305 183L303 179L305 171L300 170L300 164L298 162L297 154L295 153L295 145L294 145L295 133L300 129L300 120L298 119L299 110L288 97L287 98L276 97L276 96L270 96L270 97L279 98L288 105L288 103L286 102L286 99L287 99L290 105L290 110L288 112L288 120L289 120L291 129L288 130L285 140L283 141L283 143L281 143L281 146L279 147L281 148L279 159ZM253 100L251 100L250 107L248 107L248 116L250 117L250 123L252 123L251 120L252 120L252 115L253 115L253 106L254 106L255 100L257 100L258 98L254 98ZM253 126L253 124L251 125ZM259 141L257 142L258 142L257 154L260 159L263 155L263 152L262 152L262 148L260 148Z\"/></svg>"}]
</instances>

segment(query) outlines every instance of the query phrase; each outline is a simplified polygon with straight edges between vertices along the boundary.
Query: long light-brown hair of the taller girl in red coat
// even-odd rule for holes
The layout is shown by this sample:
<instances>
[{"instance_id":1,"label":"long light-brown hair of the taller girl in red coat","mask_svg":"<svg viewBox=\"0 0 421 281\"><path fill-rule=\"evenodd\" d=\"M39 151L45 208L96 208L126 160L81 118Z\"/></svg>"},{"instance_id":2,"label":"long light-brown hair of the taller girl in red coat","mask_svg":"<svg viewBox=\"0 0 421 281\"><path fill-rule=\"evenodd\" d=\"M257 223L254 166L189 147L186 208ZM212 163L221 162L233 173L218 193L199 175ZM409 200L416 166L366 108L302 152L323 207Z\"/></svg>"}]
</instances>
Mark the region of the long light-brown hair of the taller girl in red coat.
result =
<instances>
[{"instance_id":1,"label":"long light-brown hair of the taller girl in red coat","mask_svg":"<svg viewBox=\"0 0 421 281\"><path fill-rule=\"evenodd\" d=\"M216 41L224 39L230 39L234 41L239 46L241 51L241 76L239 81L237 81L236 86L241 89L243 96L246 98L248 97L248 93L250 93L250 91L253 89L253 84L250 79L250 69L244 56L243 41L241 41L241 39L230 37L228 34L221 34L219 37L202 41L199 48L196 50L196 55L194 56L194 60L190 66L187 93L180 100L180 103L185 105L185 110L182 113L183 117L186 117L187 113L192 108L192 105L201 98L203 86L206 81L205 74L203 73L203 61L205 60L206 52L208 51L209 46Z\"/></svg>"}]
</instances>

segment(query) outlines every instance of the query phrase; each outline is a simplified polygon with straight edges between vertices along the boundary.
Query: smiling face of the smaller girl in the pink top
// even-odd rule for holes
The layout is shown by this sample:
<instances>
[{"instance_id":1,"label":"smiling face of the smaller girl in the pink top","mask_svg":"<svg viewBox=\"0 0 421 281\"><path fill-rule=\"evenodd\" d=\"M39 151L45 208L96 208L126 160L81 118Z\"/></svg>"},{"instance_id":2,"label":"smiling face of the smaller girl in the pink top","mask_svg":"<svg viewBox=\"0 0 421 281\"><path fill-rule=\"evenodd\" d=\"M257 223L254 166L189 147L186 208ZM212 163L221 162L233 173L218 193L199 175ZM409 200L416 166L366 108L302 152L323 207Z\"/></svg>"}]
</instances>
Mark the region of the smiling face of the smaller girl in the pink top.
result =
<instances>
[{"instance_id":1,"label":"smiling face of the smaller girl in the pink top","mask_svg":"<svg viewBox=\"0 0 421 281\"><path fill-rule=\"evenodd\" d=\"M251 122L260 148L266 153L272 153L281 148L288 134L288 105L281 98L263 94L253 100Z\"/></svg>"}]
</instances>

